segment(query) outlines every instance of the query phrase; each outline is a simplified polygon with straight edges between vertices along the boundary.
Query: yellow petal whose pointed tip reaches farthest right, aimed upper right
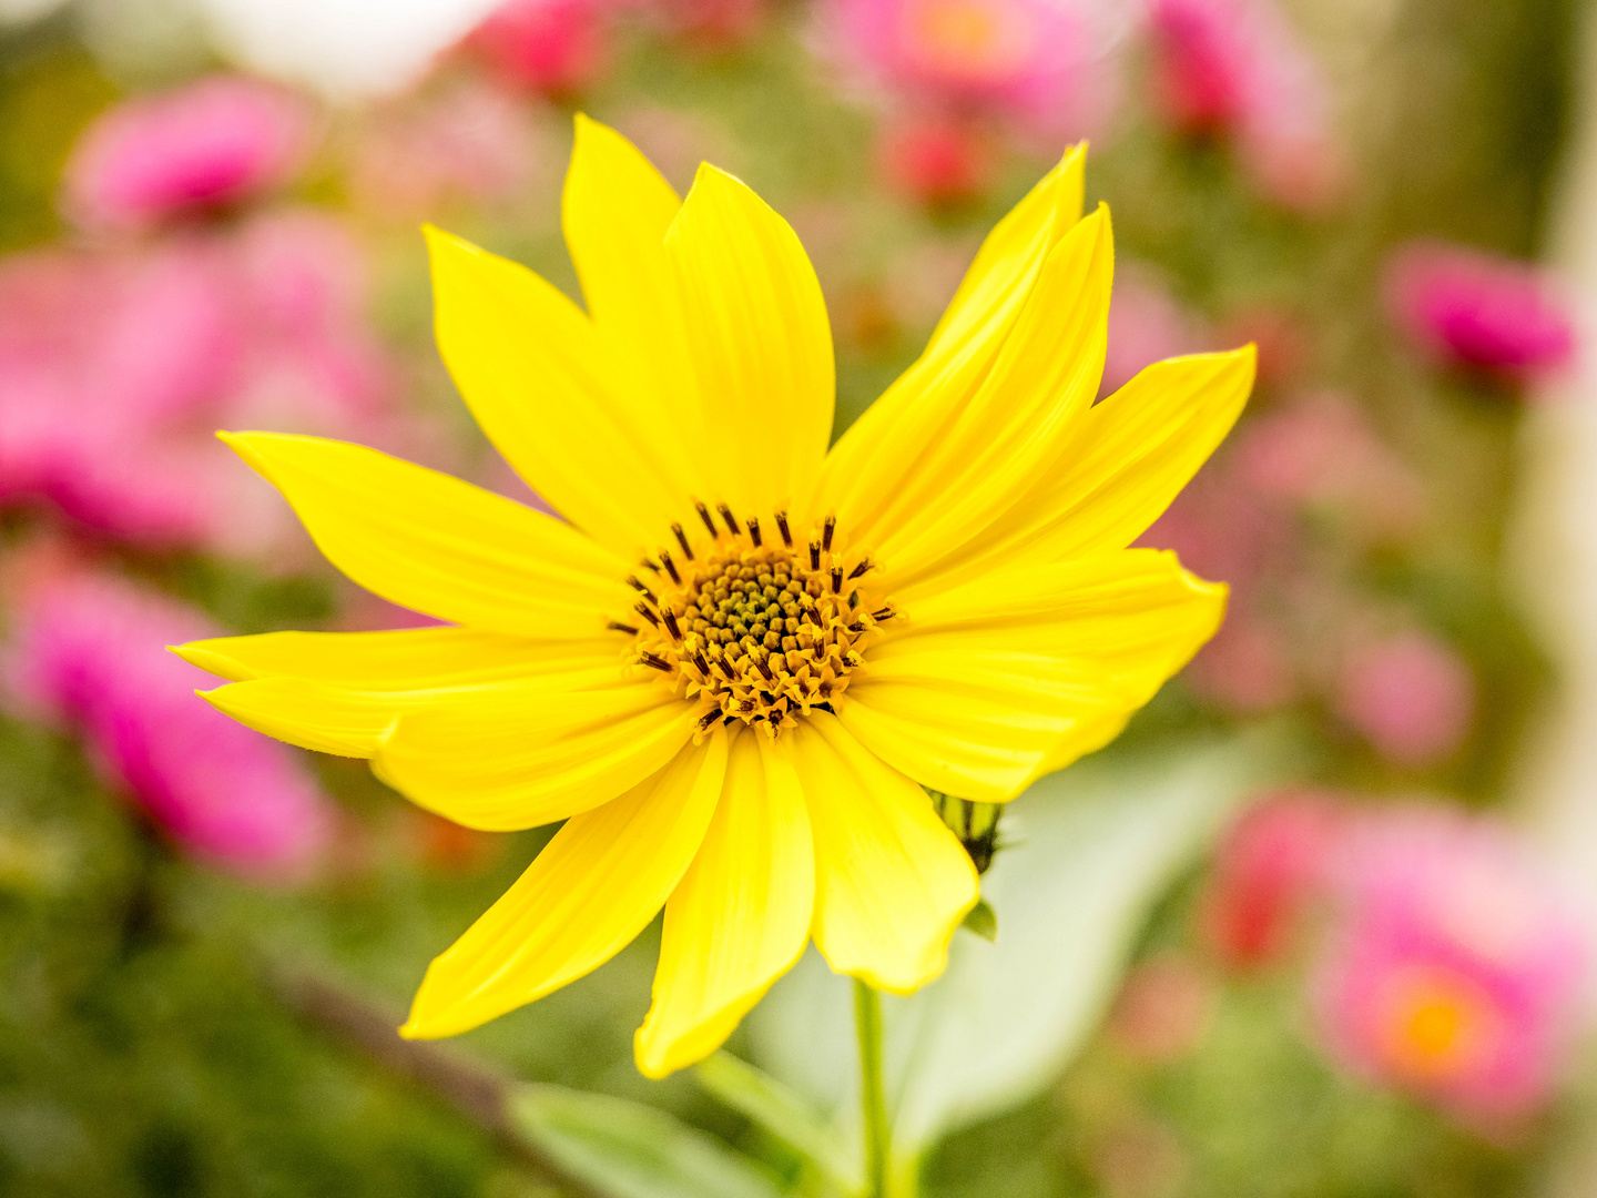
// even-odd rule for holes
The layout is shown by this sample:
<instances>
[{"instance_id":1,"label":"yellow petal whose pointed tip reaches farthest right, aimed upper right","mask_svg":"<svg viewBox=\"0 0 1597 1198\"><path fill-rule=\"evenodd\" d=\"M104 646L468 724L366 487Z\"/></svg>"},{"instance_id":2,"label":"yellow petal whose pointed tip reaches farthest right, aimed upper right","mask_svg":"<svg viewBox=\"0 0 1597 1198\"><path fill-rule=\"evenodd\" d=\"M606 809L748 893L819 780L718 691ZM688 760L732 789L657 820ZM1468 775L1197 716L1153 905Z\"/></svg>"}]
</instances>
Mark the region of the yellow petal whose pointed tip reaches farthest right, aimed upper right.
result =
<instances>
[{"instance_id":1,"label":"yellow petal whose pointed tip reaches farthest right, aimed upper right","mask_svg":"<svg viewBox=\"0 0 1597 1198\"><path fill-rule=\"evenodd\" d=\"M961 554L942 583L995 564L1123 549L1198 473L1236 423L1254 385L1252 345L1155 363L1081 420L1059 471Z\"/></svg>"}]
</instances>

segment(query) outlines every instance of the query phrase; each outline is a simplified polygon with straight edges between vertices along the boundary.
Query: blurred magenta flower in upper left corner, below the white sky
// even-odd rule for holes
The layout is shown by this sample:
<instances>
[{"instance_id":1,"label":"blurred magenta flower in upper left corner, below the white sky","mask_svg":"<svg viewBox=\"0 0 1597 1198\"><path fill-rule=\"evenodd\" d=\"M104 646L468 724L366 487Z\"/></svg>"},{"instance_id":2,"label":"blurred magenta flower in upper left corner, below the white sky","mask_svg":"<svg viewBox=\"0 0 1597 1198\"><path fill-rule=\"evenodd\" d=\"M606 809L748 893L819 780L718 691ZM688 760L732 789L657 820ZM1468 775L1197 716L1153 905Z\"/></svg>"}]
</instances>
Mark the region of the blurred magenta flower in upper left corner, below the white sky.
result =
<instances>
[{"instance_id":1,"label":"blurred magenta flower in upper left corner, below the white sky","mask_svg":"<svg viewBox=\"0 0 1597 1198\"><path fill-rule=\"evenodd\" d=\"M302 99L249 78L128 101L78 141L62 208L85 228L129 230L236 203L287 182L311 131Z\"/></svg>"}]
</instances>

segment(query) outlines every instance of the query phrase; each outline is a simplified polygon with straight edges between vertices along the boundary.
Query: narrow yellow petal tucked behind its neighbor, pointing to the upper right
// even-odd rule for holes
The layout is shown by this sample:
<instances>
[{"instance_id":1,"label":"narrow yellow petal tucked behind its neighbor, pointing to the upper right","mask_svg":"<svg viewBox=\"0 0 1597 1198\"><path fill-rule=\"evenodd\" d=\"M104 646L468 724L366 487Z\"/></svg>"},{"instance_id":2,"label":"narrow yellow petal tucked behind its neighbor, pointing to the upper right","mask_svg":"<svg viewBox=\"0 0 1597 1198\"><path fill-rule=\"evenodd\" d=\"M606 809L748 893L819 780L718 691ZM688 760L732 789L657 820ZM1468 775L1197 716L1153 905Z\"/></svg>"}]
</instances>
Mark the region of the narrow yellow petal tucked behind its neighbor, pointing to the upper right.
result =
<instances>
[{"instance_id":1,"label":"narrow yellow petal tucked behind its neighbor, pointing to the upper right","mask_svg":"<svg viewBox=\"0 0 1597 1198\"><path fill-rule=\"evenodd\" d=\"M998 359L1052 248L1078 222L1086 147L1078 145L987 236L926 351L827 454L819 511L874 545L885 508L913 479Z\"/></svg>"}]
</instances>

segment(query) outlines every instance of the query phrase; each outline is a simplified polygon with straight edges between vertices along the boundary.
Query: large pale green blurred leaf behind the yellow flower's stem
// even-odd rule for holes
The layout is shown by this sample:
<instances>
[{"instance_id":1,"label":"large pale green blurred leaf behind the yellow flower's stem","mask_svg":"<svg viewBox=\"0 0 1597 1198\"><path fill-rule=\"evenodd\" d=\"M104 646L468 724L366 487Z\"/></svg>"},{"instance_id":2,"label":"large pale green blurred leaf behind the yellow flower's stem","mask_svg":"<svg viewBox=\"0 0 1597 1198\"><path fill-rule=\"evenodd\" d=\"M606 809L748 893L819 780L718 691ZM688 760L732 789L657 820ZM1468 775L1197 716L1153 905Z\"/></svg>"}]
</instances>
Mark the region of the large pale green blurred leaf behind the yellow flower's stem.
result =
<instances>
[{"instance_id":1,"label":"large pale green blurred leaf behind the yellow flower's stem","mask_svg":"<svg viewBox=\"0 0 1597 1198\"><path fill-rule=\"evenodd\" d=\"M1005 813L982 879L1003 918L955 936L949 968L885 1003L896 1147L937 1137L1046 1088L1097 1025L1150 910L1234 807L1279 775L1282 728L1097 757L1036 783ZM808 954L749 1019L755 1057L850 1128L858 1069L846 978Z\"/></svg>"}]
</instances>

